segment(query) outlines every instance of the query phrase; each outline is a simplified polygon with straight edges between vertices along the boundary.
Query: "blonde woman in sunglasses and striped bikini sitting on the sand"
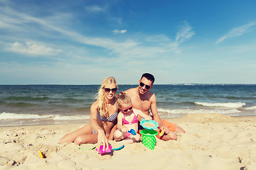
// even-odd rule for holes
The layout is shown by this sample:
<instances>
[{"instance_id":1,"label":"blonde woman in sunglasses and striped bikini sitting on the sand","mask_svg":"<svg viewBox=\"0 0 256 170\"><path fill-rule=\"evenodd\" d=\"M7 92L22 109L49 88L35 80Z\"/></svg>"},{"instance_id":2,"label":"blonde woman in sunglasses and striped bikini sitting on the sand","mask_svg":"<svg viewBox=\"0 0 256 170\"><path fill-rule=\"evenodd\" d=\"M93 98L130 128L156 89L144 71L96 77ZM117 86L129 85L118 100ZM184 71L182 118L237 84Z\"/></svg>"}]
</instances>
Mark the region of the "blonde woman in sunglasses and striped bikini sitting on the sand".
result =
<instances>
[{"instance_id":1,"label":"blonde woman in sunglasses and striped bikini sitting on the sand","mask_svg":"<svg viewBox=\"0 0 256 170\"><path fill-rule=\"evenodd\" d=\"M90 123L84 127L70 132L60 139L60 144L75 142L76 145L85 143L97 143L108 148L107 140L113 140L114 131L117 129L118 108L115 94L117 92L117 81L114 77L107 77L97 93L97 101L90 108Z\"/></svg>"}]
</instances>

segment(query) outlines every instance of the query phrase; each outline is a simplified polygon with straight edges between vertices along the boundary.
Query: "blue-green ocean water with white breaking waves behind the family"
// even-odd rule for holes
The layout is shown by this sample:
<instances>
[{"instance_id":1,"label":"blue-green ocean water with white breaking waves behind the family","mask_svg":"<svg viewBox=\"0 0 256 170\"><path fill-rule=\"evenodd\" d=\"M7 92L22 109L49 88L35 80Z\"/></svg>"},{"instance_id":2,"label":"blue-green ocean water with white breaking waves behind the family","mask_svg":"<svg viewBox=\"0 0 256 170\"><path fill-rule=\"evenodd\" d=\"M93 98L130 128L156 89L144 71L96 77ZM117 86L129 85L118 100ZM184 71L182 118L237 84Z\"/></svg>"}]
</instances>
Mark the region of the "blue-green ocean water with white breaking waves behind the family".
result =
<instances>
[{"instance_id":1,"label":"blue-green ocean water with white breaking waves behind the family","mask_svg":"<svg viewBox=\"0 0 256 170\"><path fill-rule=\"evenodd\" d=\"M137 85L119 85L119 91ZM0 85L0 126L88 123L100 85ZM256 84L154 85L161 118L256 115Z\"/></svg>"}]
</instances>

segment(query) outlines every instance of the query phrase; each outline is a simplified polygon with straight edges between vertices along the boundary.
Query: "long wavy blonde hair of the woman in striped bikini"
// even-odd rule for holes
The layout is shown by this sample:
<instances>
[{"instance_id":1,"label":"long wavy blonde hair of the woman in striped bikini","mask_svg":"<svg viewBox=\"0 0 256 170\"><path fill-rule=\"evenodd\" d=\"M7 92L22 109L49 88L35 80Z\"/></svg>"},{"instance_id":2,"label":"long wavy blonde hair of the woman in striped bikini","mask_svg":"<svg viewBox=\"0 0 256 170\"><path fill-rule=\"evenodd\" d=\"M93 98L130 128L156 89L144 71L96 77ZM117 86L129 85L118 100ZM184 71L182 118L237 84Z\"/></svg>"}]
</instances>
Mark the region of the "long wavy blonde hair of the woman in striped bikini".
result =
<instances>
[{"instance_id":1,"label":"long wavy blonde hair of the woman in striped bikini","mask_svg":"<svg viewBox=\"0 0 256 170\"><path fill-rule=\"evenodd\" d=\"M102 85L100 86L100 89L98 93L96 94L96 99L98 101L98 111L100 112L100 115L104 116L106 118L107 114L107 99L105 98L105 90L104 87L107 84L115 84L117 86L117 81L114 79L114 77L107 77L102 81Z\"/></svg>"}]
</instances>

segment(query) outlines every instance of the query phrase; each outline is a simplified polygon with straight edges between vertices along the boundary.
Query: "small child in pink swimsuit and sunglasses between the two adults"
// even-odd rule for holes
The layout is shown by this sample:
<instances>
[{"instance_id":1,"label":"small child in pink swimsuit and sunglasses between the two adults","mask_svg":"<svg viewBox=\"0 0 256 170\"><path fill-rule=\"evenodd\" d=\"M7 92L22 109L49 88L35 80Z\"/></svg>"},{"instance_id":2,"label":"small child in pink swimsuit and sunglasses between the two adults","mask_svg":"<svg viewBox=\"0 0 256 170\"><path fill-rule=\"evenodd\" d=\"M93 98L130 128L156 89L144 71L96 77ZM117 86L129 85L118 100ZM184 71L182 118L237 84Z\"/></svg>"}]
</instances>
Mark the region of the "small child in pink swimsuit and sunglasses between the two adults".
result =
<instances>
[{"instance_id":1,"label":"small child in pink swimsuit and sunglasses between the two adults","mask_svg":"<svg viewBox=\"0 0 256 170\"><path fill-rule=\"evenodd\" d=\"M120 112L117 115L117 130L114 132L114 139L116 141L122 140L124 144L139 142L140 135L138 134L137 116L140 115L145 120L151 120L151 116L132 108L131 98L122 91L120 94L117 94L116 103ZM136 132L136 135L132 135L132 132L128 132L132 129Z\"/></svg>"}]
</instances>

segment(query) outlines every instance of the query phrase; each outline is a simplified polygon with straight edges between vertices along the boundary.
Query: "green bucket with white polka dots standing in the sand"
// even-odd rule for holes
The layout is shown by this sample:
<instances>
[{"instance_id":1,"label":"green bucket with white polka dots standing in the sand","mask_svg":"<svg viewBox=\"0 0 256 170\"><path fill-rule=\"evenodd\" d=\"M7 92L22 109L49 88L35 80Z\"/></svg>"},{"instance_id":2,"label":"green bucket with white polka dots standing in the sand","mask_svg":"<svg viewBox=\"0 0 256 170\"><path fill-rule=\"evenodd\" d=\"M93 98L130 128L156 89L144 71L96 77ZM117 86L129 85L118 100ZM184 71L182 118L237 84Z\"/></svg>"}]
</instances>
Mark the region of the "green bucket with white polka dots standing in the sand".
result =
<instances>
[{"instance_id":1,"label":"green bucket with white polka dots standing in the sand","mask_svg":"<svg viewBox=\"0 0 256 170\"><path fill-rule=\"evenodd\" d=\"M156 145L156 135L158 132L156 130L141 130L142 134L142 143L144 146L153 150Z\"/></svg>"}]
</instances>

